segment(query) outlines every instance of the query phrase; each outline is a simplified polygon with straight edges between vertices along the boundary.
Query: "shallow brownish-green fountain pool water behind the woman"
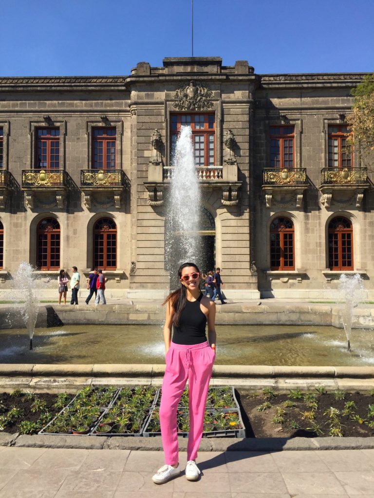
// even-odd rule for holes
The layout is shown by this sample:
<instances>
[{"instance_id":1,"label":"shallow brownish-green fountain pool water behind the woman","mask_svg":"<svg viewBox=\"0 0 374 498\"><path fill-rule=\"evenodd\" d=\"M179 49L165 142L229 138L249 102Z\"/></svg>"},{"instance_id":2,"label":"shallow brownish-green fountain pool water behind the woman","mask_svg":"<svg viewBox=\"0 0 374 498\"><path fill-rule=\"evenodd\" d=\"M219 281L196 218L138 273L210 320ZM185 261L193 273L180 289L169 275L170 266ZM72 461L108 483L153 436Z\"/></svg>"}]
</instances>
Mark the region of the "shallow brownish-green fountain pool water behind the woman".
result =
<instances>
[{"instance_id":1,"label":"shallow brownish-green fountain pool water behind the woman","mask_svg":"<svg viewBox=\"0 0 374 498\"><path fill-rule=\"evenodd\" d=\"M317 326L220 325L217 365L374 365L374 331ZM164 363L163 329L155 325L66 325L36 329L34 349L22 330L0 330L0 363Z\"/></svg>"}]
</instances>

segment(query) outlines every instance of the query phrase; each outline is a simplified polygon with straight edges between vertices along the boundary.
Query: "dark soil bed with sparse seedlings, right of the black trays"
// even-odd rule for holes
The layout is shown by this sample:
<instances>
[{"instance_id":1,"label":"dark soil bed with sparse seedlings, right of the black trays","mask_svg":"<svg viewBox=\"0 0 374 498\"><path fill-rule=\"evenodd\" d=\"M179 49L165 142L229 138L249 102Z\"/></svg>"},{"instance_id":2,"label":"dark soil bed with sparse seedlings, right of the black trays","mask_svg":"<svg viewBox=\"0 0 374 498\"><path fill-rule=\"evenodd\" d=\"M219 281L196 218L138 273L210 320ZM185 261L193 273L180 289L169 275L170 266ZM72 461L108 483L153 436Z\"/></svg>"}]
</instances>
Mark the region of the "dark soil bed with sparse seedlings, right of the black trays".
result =
<instances>
[{"instance_id":1,"label":"dark soil bed with sparse seedlings, right of the black trays","mask_svg":"<svg viewBox=\"0 0 374 498\"><path fill-rule=\"evenodd\" d=\"M239 392L247 437L374 436L374 390L327 392L316 386L287 394L268 387L260 393Z\"/></svg>"}]
</instances>

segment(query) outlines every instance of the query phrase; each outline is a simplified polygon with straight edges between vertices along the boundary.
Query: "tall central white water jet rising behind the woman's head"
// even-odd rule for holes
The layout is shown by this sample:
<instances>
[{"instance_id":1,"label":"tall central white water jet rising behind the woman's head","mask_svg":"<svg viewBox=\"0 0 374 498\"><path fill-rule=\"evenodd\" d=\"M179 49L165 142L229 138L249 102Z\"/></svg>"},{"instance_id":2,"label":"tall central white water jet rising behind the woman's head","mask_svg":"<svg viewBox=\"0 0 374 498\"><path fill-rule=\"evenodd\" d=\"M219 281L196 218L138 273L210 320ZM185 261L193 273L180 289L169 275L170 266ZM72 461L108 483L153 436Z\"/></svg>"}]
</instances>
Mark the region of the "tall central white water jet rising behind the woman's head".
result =
<instances>
[{"instance_id":1,"label":"tall central white water jet rising behind the woman's head","mask_svg":"<svg viewBox=\"0 0 374 498\"><path fill-rule=\"evenodd\" d=\"M182 126L173 158L165 255L171 276L186 261L199 261L200 187L192 147L190 126ZM173 284L172 284L173 285Z\"/></svg>"}]
</instances>

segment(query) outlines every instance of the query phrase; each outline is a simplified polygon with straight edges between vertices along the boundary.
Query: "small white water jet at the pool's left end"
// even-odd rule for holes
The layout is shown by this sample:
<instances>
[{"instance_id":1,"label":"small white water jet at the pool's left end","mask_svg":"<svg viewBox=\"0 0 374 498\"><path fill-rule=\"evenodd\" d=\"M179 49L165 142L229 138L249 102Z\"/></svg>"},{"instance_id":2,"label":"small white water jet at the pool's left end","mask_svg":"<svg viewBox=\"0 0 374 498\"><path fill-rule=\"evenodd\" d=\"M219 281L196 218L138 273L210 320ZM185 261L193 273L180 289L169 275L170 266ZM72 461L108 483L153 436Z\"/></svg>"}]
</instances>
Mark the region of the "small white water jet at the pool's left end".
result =
<instances>
[{"instance_id":1,"label":"small white water jet at the pool's left end","mask_svg":"<svg viewBox=\"0 0 374 498\"><path fill-rule=\"evenodd\" d=\"M32 337L39 309L37 283L32 272L33 267L29 263L21 263L14 275L11 292L15 301L25 301L24 306L20 308L20 313L27 328L30 349L32 349Z\"/></svg>"}]
</instances>

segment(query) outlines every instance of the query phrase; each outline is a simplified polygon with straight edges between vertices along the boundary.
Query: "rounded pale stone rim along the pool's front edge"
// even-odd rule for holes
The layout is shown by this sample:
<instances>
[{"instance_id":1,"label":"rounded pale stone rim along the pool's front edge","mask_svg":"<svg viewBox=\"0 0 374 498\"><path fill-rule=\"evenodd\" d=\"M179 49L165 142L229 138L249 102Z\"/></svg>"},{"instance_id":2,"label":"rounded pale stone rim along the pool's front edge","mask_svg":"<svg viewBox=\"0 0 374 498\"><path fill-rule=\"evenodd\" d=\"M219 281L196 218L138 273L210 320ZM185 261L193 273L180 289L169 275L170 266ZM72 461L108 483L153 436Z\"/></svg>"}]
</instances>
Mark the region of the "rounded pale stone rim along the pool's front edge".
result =
<instances>
[{"instance_id":1,"label":"rounded pale stone rim along the pool's front edge","mask_svg":"<svg viewBox=\"0 0 374 498\"><path fill-rule=\"evenodd\" d=\"M165 366L161 364L1 364L0 376L66 377L162 377ZM214 377L234 378L374 378L374 367L283 367L267 365L216 365Z\"/></svg>"}]
</instances>

